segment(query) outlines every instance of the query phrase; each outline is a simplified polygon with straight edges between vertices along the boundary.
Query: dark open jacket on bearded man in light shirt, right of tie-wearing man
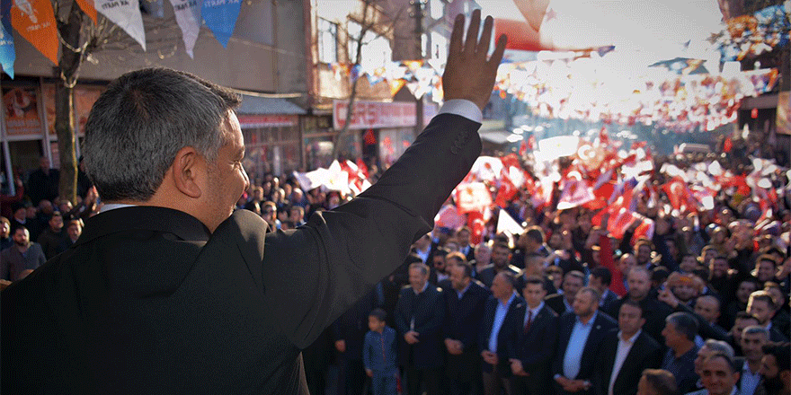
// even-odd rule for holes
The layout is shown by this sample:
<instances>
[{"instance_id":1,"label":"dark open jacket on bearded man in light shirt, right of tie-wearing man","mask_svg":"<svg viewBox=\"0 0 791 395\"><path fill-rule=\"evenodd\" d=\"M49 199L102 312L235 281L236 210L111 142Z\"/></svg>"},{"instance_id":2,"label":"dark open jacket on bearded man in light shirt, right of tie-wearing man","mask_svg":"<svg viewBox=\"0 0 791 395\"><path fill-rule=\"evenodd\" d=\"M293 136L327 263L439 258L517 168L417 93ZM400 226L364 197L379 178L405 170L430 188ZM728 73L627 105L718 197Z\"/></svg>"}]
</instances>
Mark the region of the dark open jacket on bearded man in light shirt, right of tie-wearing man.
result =
<instances>
[{"instance_id":1,"label":"dark open jacket on bearded man in light shirt, right of tie-wearing man","mask_svg":"<svg viewBox=\"0 0 791 395\"><path fill-rule=\"evenodd\" d=\"M564 315L560 316L560 332L557 335L555 358L552 361L553 375L564 375L563 361L565 350L569 345L569 339L572 336L572 330L574 329L576 319L577 316L574 315L573 312L566 312ZM618 326L616 321L611 319L605 312L599 312L596 315L596 319L593 320L592 325L593 327L591 328L591 333L588 335L588 340L585 342L585 347L582 348L582 355L578 356L580 358L580 372L577 373L576 377L567 377L568 379L591 380L591 377L593 377L593 366L597 363L597 358L599 357L601 342L604 340L605 336L607 336L610 329L614 329Z\"/></svg>"}]
</instances>

